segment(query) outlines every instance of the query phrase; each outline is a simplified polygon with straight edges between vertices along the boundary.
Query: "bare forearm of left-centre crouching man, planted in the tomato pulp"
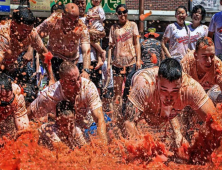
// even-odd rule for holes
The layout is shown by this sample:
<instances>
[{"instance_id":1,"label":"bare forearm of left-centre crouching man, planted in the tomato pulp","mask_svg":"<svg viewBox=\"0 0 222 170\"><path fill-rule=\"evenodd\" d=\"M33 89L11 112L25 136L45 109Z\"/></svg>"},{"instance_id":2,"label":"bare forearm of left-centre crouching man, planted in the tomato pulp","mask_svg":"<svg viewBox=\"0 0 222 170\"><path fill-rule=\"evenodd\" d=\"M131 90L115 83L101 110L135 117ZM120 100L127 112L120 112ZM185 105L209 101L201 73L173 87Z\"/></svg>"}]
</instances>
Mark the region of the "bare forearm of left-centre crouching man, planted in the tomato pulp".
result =
<instances>
[{"instance_id":1,"label":"bare forearm of left-centre crouching man, planted in the tomato pulp","mask_svg":"<svg viewBox=\"0 0 222 170\"><path fill-rule=\"evenodd\" d=\"M102 107L99 107L95 110L92 111L92 116L94 121L97 124L97 133L100 137L100 139L102 139L102 141L107 144L107 136L106 136L106 123L104 120L104 115L103 115L103 110Z\"/></svg>"}]
</instances>

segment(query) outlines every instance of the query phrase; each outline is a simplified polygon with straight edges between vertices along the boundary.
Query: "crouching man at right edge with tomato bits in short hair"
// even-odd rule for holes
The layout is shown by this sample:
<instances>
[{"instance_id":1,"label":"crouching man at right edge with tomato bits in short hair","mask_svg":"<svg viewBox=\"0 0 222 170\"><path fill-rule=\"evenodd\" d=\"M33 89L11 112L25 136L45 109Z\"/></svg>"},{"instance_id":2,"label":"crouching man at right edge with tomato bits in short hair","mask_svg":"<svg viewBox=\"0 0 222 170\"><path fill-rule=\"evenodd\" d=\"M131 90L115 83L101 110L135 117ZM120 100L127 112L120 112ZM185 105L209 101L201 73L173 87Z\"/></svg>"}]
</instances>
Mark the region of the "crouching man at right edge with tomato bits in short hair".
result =
<instances>
[{"instance_id":1,"label":"crouching man at right edge with tomato bits in short hair","mask_svg":"<svg viewBox=\"0 0 222 170\"><path fill-rule=\"evenodd\" d=\"M183 71L201 84L212 101L222 101L222 62L215 56L215 46L209 37L198 39L196 50L181 60Z\"/></svg>"}]
</instances>

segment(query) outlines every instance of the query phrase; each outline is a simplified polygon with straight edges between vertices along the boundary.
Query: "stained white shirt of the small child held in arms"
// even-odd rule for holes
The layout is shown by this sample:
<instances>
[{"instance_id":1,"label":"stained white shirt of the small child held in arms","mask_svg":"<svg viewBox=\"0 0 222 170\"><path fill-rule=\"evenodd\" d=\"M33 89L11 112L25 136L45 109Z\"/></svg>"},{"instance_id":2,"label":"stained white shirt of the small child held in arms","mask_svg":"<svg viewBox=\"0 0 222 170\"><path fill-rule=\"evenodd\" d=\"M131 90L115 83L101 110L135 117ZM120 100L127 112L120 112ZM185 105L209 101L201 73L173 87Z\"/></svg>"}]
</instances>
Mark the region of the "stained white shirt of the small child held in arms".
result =
<instances>
[{"instance_id":1,"label":"stained white shirt of the small child held in arms","mask_svg":"<svg viewBox=\"0 0 222 170\"><path fill-rule=\"evenodd\" d=\"M105 12L101 6L89 8L87 15L91 15L91 16L99 15L99 17L100 17L99 20L98 19L90 19L89 22L92 23L90 28L96 29L98 31L104 30L103 21L106 19L106 15L105 15ZM87 24L87 26L89 26L89 25Z\"/></svg>"}]
</instances>

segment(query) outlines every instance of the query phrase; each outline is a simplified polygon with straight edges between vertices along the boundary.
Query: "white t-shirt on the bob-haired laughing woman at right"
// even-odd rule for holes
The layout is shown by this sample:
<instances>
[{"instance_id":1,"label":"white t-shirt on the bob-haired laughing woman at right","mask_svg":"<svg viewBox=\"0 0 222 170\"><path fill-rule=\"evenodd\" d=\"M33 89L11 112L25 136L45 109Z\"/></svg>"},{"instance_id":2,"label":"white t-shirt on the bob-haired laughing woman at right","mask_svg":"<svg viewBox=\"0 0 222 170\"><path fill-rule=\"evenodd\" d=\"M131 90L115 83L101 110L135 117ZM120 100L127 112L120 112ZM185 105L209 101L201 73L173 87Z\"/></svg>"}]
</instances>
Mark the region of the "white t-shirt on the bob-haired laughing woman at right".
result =
<instances>
[{"instance_id":1,"label":"white t-shirt on the bob-haired laughing woman at right","mask_svg":"<svg viewBox=\"0 0 222 170\"><path fill-rule=\"evenodd\" d=\"M190 29L190 50L196 49L197 40L201 37L206 37L208 35L208 27L206 25L200 25L197 28L192 28L191 24L188 25Z\"/></svg>"}]
</instances>

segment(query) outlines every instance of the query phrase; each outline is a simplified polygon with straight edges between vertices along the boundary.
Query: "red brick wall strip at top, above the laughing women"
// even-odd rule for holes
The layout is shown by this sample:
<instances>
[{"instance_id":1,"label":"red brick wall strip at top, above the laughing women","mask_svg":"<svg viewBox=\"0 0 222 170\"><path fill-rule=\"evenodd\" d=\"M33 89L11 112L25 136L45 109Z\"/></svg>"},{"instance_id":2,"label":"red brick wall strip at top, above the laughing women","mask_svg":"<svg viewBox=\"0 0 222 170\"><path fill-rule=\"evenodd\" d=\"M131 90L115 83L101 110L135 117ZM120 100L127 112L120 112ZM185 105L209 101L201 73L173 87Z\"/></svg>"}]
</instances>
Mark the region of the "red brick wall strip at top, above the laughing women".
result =
<instances>
[{"instance_id":1,"label":"red brick wall strip at top, above the laughing women","mask_svg":"<svg viewBox=\"0 0 222 170\"><path fill-rule=\"evenodd\" d=\"M145 10L174 11L178 6L183 5L188 9L189 0L144 0ZM139 9L139 0L126 0L128 9Z\"/></svg>"}]
</instances>

